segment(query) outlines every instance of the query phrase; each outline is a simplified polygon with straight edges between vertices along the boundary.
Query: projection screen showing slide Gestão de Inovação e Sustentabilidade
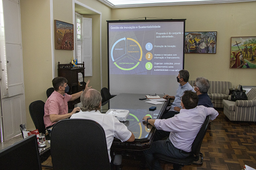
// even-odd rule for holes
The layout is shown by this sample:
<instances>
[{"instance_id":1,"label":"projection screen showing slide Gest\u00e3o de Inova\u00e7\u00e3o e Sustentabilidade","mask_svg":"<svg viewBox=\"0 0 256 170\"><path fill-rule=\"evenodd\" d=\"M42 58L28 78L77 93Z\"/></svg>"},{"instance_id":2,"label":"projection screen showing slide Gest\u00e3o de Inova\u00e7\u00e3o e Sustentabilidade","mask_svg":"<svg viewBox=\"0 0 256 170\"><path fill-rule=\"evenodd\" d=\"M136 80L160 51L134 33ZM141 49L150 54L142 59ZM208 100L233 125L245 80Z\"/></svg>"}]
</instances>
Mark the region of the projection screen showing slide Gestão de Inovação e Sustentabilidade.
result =
<instances>
[{"instance_id":1,"label":"projection screen showing slide Gest\u00e3o de Inova\u00e7\u00e3o e Sustentabilidade","mask_svg":"<svg viewBox=\"0 0 256 170\"><path fill-rule=\"evenodd\" d=\"M107 21L108 88L175 95L184 69L184 20Z\"/></svg>"}]
</instances>

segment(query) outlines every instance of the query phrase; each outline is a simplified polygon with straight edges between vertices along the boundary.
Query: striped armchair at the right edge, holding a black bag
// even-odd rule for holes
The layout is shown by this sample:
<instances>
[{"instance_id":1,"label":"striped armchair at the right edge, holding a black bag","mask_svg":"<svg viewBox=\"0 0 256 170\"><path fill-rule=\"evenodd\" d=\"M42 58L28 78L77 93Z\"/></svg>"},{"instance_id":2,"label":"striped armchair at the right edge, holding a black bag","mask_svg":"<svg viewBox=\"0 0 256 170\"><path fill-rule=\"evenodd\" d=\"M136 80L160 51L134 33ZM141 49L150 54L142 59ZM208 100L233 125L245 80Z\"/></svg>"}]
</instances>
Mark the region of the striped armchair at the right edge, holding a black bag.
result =
<instances>
[{"instance_id":1,"label":"striped armchair at the right edge, holding a black bag","mask_svg":"<svg viewBox=\"0 0 256 170\"><path fill-rule=\"evenodd\" d=\"M256 88L247 94L248 100L223 100L224 114L231 121L256 121Z\"/></svg>"}]
</instances>

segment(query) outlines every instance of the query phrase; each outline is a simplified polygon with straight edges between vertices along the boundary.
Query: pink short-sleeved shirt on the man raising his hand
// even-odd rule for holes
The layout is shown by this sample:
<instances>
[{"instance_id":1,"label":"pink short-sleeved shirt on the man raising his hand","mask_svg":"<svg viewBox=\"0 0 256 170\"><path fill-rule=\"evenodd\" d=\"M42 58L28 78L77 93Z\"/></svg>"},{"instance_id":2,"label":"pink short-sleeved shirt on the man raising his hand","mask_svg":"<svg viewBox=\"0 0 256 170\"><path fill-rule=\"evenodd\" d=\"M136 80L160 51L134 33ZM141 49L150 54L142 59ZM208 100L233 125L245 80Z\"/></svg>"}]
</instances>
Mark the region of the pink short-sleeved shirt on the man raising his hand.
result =
<instances>
[{"instance_id":1,"label":"pink short-sleeved shirt on the man raising his hand","mask_svg":"<svg viewBox=\"0 0 256 170\"><path fill-rule=\"evenodd\" d=\"M52 126L56 122L52 123L50 120L50 114L66 114L68 113L67 102L71 99L71 95L61 95L59 92L54 91L50 97L46 100L44 105L43 121L45 127Z\"/></svg>"}]
</instances>

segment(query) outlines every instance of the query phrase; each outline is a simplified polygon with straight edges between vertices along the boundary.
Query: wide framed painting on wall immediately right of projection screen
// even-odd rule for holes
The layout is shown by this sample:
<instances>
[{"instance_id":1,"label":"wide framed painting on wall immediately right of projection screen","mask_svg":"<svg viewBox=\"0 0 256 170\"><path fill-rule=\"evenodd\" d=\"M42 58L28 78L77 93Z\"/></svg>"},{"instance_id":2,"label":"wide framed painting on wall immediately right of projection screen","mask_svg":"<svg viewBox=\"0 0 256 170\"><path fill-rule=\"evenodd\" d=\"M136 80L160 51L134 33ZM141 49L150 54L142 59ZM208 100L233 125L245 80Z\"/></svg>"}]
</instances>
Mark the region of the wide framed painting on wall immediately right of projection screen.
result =
<instances>
[{"instance_id":1,"label":"wide framed painting on wall immediately right of projection screen","mask_svg":"<svg viewBox=\"0 0 256 170\"><path fill-rule=\"evenodd\" d=\"M216 54L217 32L185 32L185 53Z\"/></svg>"}]
</instances>

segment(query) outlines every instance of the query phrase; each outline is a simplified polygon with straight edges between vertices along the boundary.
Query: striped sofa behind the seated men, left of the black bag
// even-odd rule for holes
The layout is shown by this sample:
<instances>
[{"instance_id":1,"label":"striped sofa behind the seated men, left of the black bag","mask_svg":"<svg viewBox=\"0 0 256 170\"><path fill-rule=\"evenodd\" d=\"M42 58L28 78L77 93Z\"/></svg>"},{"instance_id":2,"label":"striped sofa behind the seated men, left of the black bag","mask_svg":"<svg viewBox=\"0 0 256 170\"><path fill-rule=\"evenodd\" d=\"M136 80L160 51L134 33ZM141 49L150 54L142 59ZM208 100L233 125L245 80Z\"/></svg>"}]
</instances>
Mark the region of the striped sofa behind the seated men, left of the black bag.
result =
<instances>
[{"instance_id":1,"label":"striped sofa behind the seated men, left of the black bag","mask_svg":"<svg viewBox=\"0 0 256 170\"><path fill-rule=\"evenodd\" d=\"M189 84L193 86L194 82L194 80L190 80ZM228 99L229 88L232 88L231 82L209 81L209 83L208 95L214 108L223 108L223 99Z\"/></svg>"}]
</instances>

